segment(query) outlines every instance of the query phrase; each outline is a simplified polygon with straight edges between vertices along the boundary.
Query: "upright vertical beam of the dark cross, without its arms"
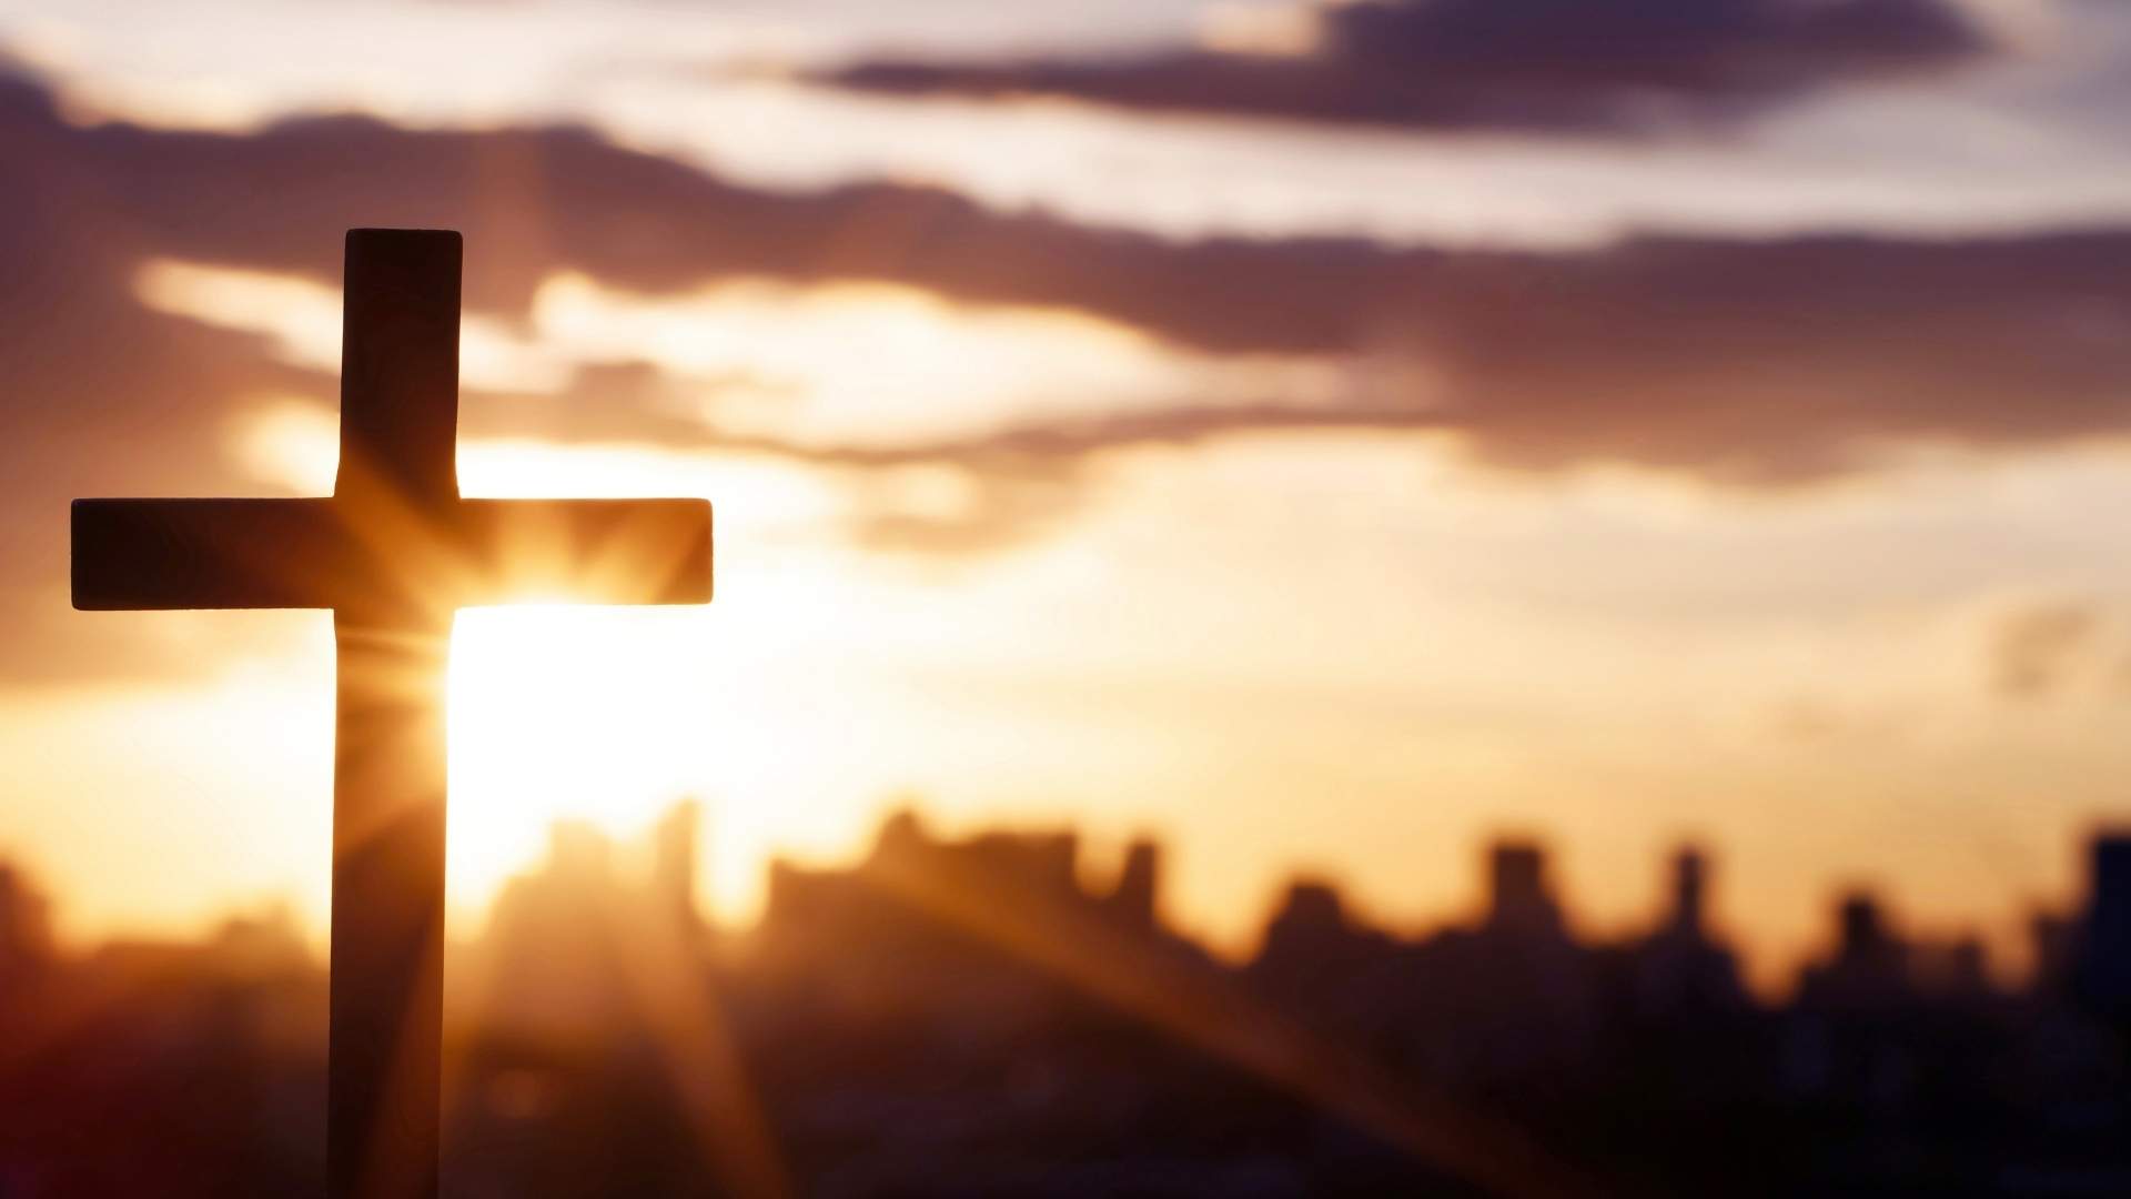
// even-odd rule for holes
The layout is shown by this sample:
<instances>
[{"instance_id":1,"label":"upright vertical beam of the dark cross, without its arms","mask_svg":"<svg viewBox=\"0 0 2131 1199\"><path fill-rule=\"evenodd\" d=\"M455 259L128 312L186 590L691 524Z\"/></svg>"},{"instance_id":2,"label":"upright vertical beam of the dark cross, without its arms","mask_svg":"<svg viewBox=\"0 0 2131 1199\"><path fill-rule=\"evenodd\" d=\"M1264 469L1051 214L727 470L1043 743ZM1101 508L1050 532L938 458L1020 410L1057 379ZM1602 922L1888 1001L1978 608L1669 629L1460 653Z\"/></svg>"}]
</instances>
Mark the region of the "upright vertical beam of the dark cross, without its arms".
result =
<instances>
[{"instance_id":1,"label":"upright vertical beam of the dark cross, without its arms","mask_svg":"<svg viewBox=\"0 0 2131 1199\"><path fill-rule=\"evenodd\" d=\"M345 275L332 497L379 553L407 553L390 529L441 527L458 501L460 239L354 228ZM418 585L367 587L332 617L332 1199L439 1190L452 606Z\"/></svg>"}]
</instances>

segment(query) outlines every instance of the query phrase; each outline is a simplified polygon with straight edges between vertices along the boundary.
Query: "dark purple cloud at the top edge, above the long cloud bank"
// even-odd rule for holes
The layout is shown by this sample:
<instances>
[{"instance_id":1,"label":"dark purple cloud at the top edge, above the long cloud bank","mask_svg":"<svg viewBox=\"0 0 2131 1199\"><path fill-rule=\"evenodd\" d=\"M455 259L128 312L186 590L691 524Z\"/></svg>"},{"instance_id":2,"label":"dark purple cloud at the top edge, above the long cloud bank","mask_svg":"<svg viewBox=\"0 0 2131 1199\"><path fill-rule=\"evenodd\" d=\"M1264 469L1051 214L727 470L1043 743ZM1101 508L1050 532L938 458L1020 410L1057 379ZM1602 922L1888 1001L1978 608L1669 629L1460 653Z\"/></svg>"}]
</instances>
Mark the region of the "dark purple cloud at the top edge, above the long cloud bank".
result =
<instances>
[{"instance_id":1,"label":"dark purple cloud at the top edge, above the long cloud bank","mask_svg":"<svg viewBox=\"0 0 2131 1199\"><path fill-rule=\"evenodd\" d=\"M1990 49L1952 0L1360 0L1300 15L1317 30L1304 53L872 60L827 79L889 94L1034 94L1308 122L1617 132Z\"/></svg>"}]
</instances>

